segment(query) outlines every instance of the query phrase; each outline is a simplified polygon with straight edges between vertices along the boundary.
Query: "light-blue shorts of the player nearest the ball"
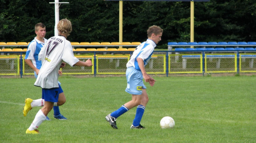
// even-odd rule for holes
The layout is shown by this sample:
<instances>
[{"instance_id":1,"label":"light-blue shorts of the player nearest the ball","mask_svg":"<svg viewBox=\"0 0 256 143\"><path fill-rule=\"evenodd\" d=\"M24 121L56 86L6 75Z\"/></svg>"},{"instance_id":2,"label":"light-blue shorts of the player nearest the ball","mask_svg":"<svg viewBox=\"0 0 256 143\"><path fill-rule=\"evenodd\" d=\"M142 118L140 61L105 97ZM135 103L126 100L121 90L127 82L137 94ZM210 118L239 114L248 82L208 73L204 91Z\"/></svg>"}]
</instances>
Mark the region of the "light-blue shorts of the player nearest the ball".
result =
<instances>
[{"instance_id":1,"label":"light-blue shorts of the player nearest the ball","mask_svg":"<svg viewBox=\"0 0 256 143\"><path fill-rule=\"evenodd\" d=\"M141 95L142 89L147 89L143 83L141 71L136 70L133 66L126 69L126 80L126 92L129 94Z\"/></svg>"}]
</instances>

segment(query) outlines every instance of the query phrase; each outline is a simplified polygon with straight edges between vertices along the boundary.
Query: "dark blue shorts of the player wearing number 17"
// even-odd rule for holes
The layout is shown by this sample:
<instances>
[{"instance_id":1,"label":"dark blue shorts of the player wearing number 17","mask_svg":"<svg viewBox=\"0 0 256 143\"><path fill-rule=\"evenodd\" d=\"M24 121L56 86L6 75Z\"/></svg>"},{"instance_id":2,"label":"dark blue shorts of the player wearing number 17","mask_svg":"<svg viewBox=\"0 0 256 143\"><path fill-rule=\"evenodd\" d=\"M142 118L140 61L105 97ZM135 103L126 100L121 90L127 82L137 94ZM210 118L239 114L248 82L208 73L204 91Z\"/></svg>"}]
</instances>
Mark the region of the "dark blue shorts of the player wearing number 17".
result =
<instances>
[{"instance_id":1,"label":"dark blue shorts of the player wearing number 17","mask_svg":"<svg viewBox=\"0 0 256 143\"><path fill-rule=\"evenodd\" d=\"M42 89L42 99L49 102L58 102L59 94L63 92L62 87L53 89Z\"/></svg>"}]
</instances>

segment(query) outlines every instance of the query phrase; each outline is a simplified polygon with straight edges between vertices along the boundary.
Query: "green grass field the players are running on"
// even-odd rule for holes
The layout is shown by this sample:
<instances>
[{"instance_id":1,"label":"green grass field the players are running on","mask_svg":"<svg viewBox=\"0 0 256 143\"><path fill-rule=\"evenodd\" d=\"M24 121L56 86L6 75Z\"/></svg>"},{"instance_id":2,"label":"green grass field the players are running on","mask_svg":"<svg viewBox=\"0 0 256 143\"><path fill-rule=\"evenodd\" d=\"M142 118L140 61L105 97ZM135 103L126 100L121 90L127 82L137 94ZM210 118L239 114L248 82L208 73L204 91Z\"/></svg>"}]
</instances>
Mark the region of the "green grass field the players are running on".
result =
<instances>
[{"instance_id":1,"label":"green grass field the players are running on","mask_svg":"<svg viewBox=\"0 0 256 143\"><path fill-rule=\"evenodd\" d=\"M136 108L117 119L112 129L105 116L130 101L126 78L59 78L66 96L60 106L68 120L44 121L41 134L25 134L40 107L23 116L24 99L41 97L34 78L0 79L0 138L2 143L255 143L256 77L154 77L141 124L130 126ZM162 117L175 120L161 129Z\"/></svg>"}]
</instances>

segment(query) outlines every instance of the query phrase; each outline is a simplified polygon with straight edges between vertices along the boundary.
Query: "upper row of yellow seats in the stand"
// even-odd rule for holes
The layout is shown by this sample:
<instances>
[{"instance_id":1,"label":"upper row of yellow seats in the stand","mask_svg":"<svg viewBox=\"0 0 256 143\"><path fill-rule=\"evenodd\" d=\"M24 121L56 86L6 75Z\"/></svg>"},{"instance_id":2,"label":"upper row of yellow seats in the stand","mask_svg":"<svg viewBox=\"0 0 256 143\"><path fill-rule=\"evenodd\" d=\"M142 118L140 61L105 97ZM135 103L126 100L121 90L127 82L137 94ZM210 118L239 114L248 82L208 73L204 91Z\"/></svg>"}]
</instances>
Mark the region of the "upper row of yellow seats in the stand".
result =
<instances>
[{"instance_id":1,"label":"upper row of yellow seats in the stand","mask_svg":"<svg viewBox=\"0 0 256 143\"><path fill-rule=\"evenodd\" d=\"M0 46L4 47L4 46L10 46L10 45L13 45L13 46L26 46L28 45L30 42L0 42ZM73 46L83 46L83 45L95 45L95 46L100 46L100 45L140 45L141 42L71 42L71 45Z\"/></svg>"}]
</instances>

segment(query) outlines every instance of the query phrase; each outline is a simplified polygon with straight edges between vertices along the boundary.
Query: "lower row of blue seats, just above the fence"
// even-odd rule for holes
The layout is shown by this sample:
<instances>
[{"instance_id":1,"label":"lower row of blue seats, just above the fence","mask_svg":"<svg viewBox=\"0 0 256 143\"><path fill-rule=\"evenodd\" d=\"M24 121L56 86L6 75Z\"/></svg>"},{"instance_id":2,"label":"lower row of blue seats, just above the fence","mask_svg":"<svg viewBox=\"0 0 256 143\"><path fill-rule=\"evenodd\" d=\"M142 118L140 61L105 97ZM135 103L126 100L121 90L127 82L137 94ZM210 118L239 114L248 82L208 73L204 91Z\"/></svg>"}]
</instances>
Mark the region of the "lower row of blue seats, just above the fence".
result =
<instances>
[{"instance_id":1,"label":"lower row of blue seats, just above the fence","mask_svg":"<svg viewBox=\"0 0 256 143\"><path fill-rule=\"evenodd\" d=\"M232 48L232 47L227 47L227 48L223 48L223 47L217 47L217 48L175 48L175 51L207 51L207 50L219 50L219 51L232 51L232 50L248 50L248 51L254 51L256 50L256 48L253 47L246 47L246 48L242 48L242 47L237 47L237 48Z\"/></svg>"}]
</instances>

